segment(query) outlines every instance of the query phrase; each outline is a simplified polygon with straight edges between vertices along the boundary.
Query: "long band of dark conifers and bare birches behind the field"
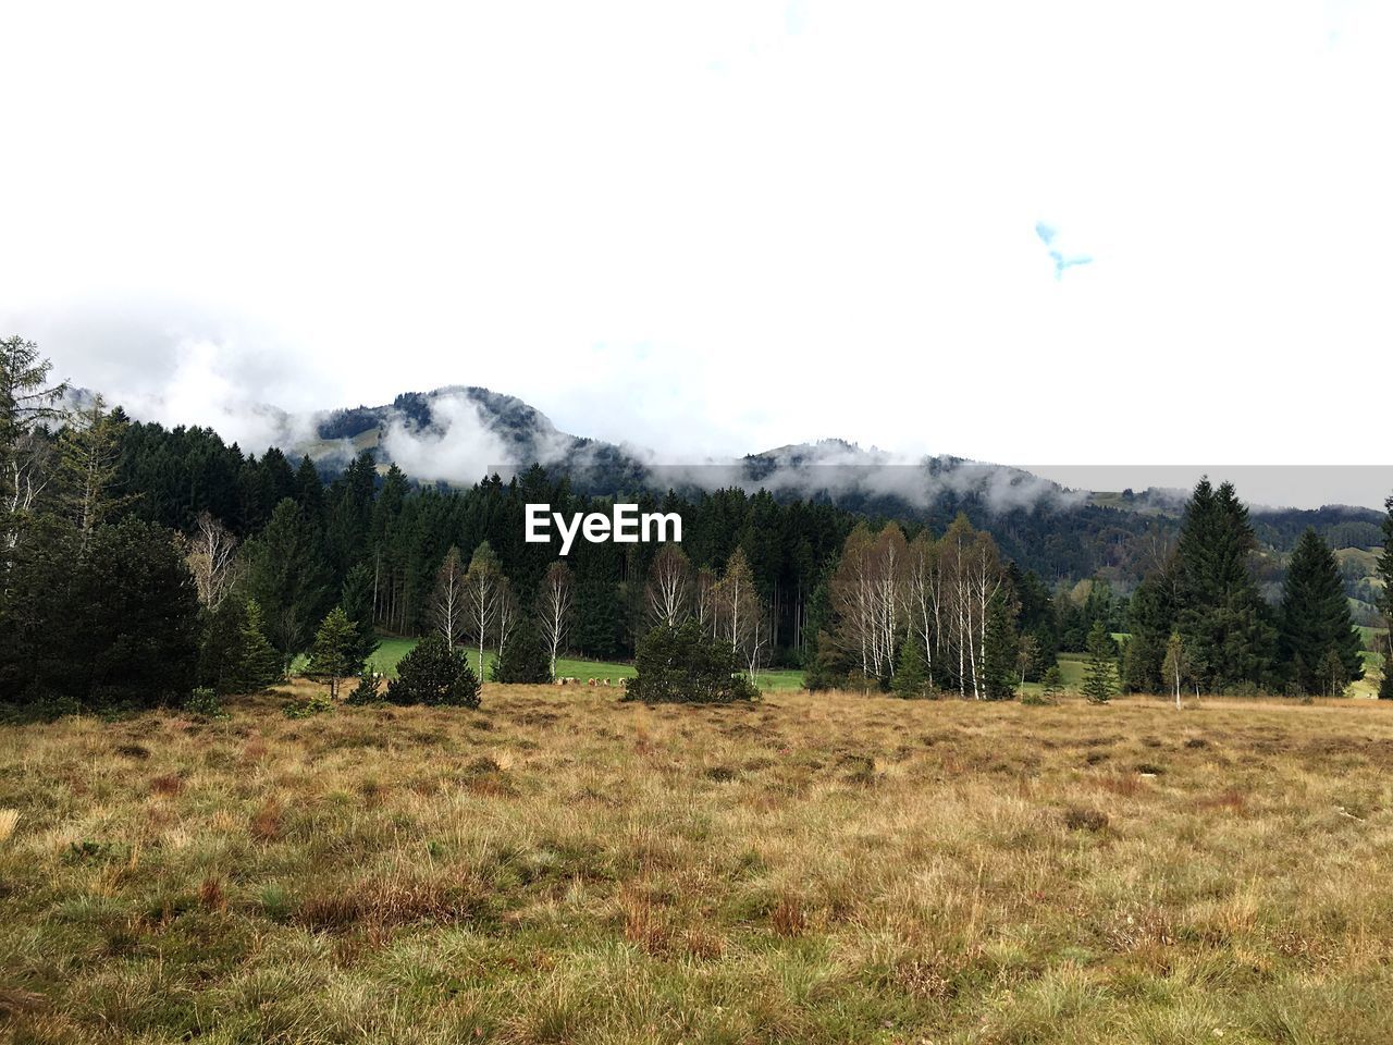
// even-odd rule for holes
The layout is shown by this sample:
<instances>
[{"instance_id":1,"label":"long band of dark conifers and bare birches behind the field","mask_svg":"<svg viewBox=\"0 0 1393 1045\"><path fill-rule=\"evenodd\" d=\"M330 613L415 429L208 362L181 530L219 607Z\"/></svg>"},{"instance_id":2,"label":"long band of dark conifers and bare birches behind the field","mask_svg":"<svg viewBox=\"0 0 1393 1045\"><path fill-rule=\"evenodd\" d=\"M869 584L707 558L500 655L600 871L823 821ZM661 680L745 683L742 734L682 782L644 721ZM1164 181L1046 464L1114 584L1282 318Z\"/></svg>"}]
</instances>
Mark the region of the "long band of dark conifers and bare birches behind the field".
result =
<instances>
[{"instance_id":1,"label":"long band of dark conifers and bare birches behind the field","mask_svg":"<svg viewBox=\"0 0 1393 1045\"><path fill-rule=\"evenodd\" d=\"M99 397L63 408L50 371L33 343L0 341L0 699L256 688L336 612L355 662L379 633L439 634L513 680L554 674L564 652L628 659L652 627L687 621L745 673L801 666L814 688L997 698L1123 631L1130 690L1169 692L1181 662L1206 691L1323 692L1362 672L1329 546L1304 535L1269 606L1247 509L1208 481L1130 599L1102 578L1050 588L967 516L935 534L763 490L639 490L641 510L683 516L681 546L578 543L559 562L522 539L524 506L612 500L540 467L450 488L362 453L326 481L308 457L131 422ZM1386 549L1380 570L1387 610Z\"/></svg>"}]
</instances>

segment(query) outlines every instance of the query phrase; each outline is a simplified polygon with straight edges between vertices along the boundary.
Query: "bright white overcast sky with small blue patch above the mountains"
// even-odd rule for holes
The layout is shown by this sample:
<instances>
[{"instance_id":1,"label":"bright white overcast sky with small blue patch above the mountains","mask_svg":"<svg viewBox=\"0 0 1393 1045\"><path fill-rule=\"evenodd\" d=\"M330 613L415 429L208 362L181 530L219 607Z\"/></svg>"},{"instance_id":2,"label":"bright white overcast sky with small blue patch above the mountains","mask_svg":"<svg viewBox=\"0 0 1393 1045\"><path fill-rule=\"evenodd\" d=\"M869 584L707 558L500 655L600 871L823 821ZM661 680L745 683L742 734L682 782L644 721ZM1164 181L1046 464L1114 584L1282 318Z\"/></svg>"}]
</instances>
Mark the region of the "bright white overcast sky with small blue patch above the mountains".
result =
<instances>
[{"instance_id":1,"label":"bright white overcast sky with small blue patch above the mountains","mask_svg":"<svg viewBox=\"0 0 1393 1045\"><path fill-rule=\"evenodd\" d=\"M0 39L0 330L138 415L254 443L256 404L483 385L671 463L1393 464L1393 4L6 4Z\"/></svg>"}]
</instances>

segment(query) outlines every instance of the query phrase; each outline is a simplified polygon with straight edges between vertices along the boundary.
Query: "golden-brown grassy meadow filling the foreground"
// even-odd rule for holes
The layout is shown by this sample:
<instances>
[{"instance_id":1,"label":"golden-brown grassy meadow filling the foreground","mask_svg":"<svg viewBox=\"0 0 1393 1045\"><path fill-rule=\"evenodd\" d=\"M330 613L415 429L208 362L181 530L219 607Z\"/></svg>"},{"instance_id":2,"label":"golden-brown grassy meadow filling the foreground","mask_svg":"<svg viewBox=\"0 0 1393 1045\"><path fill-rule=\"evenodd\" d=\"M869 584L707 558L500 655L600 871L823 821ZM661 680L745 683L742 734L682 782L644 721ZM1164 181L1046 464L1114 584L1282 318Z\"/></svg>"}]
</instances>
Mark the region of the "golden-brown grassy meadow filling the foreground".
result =
<instances>
[{"instance_id":1,"label":"golden-brown grassy meadow filling the foreground","mask_svg":"<svg viewBox=\"0 0 1393 1045\"><path fill-rule=\"evenodd\" d=\"M0 1039L1393 1041L1376 702L284 699L0 729Z\"/></svg>"}]
</instances>

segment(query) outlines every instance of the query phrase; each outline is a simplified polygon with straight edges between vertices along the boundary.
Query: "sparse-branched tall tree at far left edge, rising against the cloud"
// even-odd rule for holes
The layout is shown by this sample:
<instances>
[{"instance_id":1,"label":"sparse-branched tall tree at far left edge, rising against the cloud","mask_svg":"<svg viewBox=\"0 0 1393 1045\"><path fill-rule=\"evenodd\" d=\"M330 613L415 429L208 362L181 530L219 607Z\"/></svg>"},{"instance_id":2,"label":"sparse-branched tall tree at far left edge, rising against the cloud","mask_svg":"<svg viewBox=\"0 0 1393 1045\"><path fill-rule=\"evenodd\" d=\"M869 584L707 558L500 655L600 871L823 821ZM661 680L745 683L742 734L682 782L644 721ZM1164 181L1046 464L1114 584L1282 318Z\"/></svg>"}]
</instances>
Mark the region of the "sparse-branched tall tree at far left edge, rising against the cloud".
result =
<instances>
[{"instance_id":1,"label":"sparse-branched tall tree at far left edge, rising against the cloud","mask_svg":"<svg viewBox=\"0 0 1393 1045\"><path fill-rule=\"evenodd\" d=\"M65 382L49 383L53 364L18 334L0 340L0 552L20 539L20 522L47 482L49 440L42 426L60 415Z\"/></svg>"}]
</instances>

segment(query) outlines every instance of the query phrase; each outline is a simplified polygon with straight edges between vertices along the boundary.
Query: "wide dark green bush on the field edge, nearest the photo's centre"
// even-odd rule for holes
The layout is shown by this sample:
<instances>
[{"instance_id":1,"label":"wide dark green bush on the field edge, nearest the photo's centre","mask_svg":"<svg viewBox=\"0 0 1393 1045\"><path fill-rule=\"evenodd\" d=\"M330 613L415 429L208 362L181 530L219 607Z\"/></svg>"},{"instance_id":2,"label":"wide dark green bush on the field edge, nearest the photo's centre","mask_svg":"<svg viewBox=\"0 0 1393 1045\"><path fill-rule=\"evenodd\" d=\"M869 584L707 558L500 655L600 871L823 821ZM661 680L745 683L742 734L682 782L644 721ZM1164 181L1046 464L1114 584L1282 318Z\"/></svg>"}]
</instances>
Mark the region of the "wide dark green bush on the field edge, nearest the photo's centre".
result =
<instances>
[{"instance_id":1,"label":"wide dark green bush on the field edge, nearest the photo's centre","mask_svg":"<svg viewBox=\"0 0 1393 1045\"><path fill-rule=\"evenodd\" d=\"M627 701L730 704L759 698L755 684L737 674L736 651L708 640L695 620L649 631L638 642L634 666L638 673L628 680Z\"/></svg>"}]
</instances>

